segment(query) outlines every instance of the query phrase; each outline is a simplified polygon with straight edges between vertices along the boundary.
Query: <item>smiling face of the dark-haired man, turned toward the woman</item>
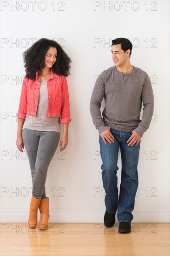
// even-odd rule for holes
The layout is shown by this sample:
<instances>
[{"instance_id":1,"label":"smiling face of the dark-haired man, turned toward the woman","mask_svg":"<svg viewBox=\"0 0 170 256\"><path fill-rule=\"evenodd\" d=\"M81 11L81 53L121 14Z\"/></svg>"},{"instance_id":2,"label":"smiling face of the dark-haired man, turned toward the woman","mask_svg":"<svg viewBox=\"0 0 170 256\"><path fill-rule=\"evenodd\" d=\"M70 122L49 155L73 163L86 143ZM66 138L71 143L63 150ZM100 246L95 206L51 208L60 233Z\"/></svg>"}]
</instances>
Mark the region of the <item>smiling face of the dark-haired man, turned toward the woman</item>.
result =
<instances>
[{"instance_id":1,"label":"smiling face of the dark-haired man, turned toward the woman","mask_svg":"<svg viewBox=\"0 0 170 256\"><path fill-rule=\"evenodd\" d=\"M121 49L121 44L113 45L111 47L112 60L116 67L122 67L125 65L126 61L129 59L130 50L125 53Z\"/></svg>"}]
</instances>

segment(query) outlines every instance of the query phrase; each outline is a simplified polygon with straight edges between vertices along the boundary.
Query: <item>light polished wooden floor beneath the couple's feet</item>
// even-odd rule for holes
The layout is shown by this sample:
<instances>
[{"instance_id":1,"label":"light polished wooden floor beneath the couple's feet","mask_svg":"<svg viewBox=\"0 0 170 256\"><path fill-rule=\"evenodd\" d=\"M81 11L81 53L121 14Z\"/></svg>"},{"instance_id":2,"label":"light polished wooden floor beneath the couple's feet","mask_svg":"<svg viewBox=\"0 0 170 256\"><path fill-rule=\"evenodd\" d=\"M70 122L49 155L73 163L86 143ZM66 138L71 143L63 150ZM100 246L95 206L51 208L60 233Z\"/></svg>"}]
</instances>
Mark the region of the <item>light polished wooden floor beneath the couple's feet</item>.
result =
<instances>
[{"instance_id":1,"label":"light polished wooden floor beneath the couple's feet","mask_svg":"<svg viewBox=\"0 0 170 256\"><path fill-rule=\"evenodd\" d=\"M27 223L0 224L0 256L170 256L168 223L131 223L131 233L118 233L118 223L49 223L48 230Z\"/></svg>"}]
</instances>

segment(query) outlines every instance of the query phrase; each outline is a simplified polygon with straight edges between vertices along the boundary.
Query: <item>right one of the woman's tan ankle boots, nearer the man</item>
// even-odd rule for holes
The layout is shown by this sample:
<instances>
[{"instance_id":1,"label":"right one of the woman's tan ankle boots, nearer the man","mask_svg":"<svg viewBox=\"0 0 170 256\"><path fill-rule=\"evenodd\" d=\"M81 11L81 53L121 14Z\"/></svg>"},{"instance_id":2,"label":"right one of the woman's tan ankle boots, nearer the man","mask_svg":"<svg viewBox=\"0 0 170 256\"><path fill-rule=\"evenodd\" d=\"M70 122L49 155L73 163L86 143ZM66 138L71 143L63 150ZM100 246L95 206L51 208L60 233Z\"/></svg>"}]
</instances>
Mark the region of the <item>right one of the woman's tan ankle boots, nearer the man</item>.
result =
<instances>
[{"instance_id":1,"label":"right one of the woman's tan ankle boots, nearer the man","mask_svg":"<svg viewBox=\"0 0 170 256\"><path fill-rule=\"evenodd\" d=\"M49 214L49 198L42 198L39 204L40 220L39 220L39 230L48 229Z\"/></svg>"}]
</instances>

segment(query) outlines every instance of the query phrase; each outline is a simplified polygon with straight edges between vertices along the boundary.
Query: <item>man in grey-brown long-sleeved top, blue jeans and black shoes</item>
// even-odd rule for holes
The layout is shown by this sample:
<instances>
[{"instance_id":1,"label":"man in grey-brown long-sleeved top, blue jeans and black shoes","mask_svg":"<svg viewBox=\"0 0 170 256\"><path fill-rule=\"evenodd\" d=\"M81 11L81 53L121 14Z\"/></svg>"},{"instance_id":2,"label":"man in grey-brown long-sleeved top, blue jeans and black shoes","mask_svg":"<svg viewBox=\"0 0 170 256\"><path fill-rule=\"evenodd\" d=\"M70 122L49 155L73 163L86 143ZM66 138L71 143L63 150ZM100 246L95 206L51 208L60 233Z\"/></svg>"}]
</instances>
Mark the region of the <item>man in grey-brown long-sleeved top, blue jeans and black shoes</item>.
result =
<instances>
[{"instance_id":1,"label":"man in grey-brown long-sleeved top, blue jeans and black shoes","mask_svg":"<svg viewBox=\"0 0 170 256\"><path fill-rule=\"evenodd\" d=\"M112 40L113 67L103 71L95 83L90 102L92 120L99 132L102 180L105 189L105 227L115 224L119 233L131 232L132 211L138 187L137 164L141 138L150 126L154 97L149 76L131 65L132 44L126 38ZM105 109L101 116L101 102ZM144 105L142 120L140 111ZM122 172L118 198L118 152Z\"/></svg>"}]
</instances>

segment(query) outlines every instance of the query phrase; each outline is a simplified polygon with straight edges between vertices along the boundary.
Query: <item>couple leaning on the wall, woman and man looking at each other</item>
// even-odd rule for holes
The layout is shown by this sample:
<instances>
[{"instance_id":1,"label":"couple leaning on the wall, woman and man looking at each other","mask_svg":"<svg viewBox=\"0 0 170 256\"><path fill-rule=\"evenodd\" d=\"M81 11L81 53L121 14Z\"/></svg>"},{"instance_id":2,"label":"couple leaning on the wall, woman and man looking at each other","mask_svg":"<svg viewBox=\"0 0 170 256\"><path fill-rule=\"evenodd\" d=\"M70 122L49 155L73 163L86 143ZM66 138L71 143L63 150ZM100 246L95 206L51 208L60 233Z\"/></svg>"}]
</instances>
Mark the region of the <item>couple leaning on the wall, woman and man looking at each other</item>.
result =
<instances>
[{"instance_id":1,"label":"couple leaning on the wall, woman and man looking at each other","mask_svg":"<svg viewBox=\"0 0 170 256\"><path fill-rule=\"evenodd\" d=\"M106 228L115 224L116 211L119 233L131 232L132 211L138 187L137 164L140 139L149 128L154 97L149 76L131 65L132 44L126 38L112 40L114 66L103 71L95 83L90 101L92 121L99 133L102 158L102 179L105 189ZM24 54L24 77L17 113L17 148L28 154L33 182L28 226L35 229L40 211L39 230L48 228L49 198L46 197L46 176L59 144L68 143L70 104L66 76L71 59L54 40L42 38ZM101 116L101 102L105 109ZM140 111L144 111L140 120ZM26 116L27 115L27 116ZM63 135L60 137L60 123ZM118 152L122 172L118 197Z\"/></svg>"}]
</instances>

